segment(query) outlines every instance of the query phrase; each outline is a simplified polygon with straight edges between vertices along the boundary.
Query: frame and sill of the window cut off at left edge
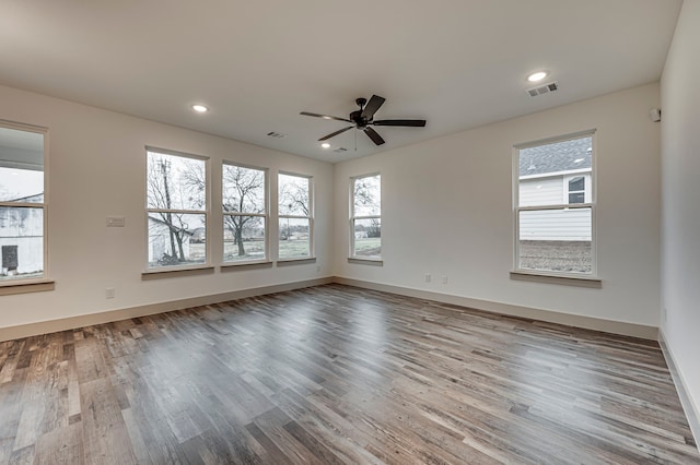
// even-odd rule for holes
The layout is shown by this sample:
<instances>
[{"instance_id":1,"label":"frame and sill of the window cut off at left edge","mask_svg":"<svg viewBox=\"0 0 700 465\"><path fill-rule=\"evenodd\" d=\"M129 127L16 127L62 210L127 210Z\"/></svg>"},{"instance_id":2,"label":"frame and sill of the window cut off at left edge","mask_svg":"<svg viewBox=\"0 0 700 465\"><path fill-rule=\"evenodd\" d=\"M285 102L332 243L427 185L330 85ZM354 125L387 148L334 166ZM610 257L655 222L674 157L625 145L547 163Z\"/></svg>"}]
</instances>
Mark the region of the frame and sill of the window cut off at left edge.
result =
<instances>
[{"instance_id":1,"label":"frame and sill of the window cut off at left edge","mask_svg":"<svg viewBox=\"0 0 700 465\"><path fill-rule=\"evenodd\" d=\"M48 246L48 223L49 223L49 130L45 127L26 124L16 121L9 121L0 119L0 127L5 129L11 129L15 131L24 131L24 132L33 132L35 134L42 134L43 138L43 181L44 181L44 192L43 192L43 201L42 202L5 202L0 201L0 207L26 207L26 208L36 208L42 210L42 241L43 241L43 250L42 250L42 275L26 278L8 278L0 279L0 296L10 295L10 294L24 294L24 293L34 293L34 291L43 291L43 290L54 290L54 282L49 278L50 269L49 269L49 246ZM1 263L0 263L1 265Z\"/></svg>"}]
</instances>

